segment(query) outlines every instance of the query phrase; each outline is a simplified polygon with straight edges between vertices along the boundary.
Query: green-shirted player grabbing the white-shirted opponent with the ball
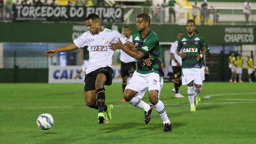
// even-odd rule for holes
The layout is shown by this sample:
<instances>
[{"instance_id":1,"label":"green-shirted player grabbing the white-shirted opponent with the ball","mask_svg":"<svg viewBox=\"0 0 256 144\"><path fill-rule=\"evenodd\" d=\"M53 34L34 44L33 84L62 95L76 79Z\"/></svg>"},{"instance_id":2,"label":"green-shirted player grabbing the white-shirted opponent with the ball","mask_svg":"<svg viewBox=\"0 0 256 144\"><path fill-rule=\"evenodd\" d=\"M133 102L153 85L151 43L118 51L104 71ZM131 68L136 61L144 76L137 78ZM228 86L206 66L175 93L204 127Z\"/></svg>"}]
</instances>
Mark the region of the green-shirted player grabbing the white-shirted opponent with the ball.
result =
<instances>
[{"instance_id":1,"label":"green-shirted player grabbing the white-shirted opponent with the ball","mask_svg":"<svg viewBox=\"0 0 256 144\"><path fill-rule=\"evenodd\" d=\"M167 117L164 103L159 99L161 89L163 87L164 72L160 62L160 49L158 35L150 29L150 16L148 14L139 14L136 18L136 27L138 32L132 35L132 42L139 48L132 50L134 44L122 45L111 43L111 49L122 49L125 53L137 59L138 68L134 72L132 78L127 83L124 90L124 99L133 106L143 109L145 112L145 123L151 120L151 112L155 107L160 117L163 120L164 131L171 131L171 122ZM148 64L145 59L150 58L151 64ZM149 100L152 104L147 104L141 99L148 89Z\"/></svg>"}]
</instances>

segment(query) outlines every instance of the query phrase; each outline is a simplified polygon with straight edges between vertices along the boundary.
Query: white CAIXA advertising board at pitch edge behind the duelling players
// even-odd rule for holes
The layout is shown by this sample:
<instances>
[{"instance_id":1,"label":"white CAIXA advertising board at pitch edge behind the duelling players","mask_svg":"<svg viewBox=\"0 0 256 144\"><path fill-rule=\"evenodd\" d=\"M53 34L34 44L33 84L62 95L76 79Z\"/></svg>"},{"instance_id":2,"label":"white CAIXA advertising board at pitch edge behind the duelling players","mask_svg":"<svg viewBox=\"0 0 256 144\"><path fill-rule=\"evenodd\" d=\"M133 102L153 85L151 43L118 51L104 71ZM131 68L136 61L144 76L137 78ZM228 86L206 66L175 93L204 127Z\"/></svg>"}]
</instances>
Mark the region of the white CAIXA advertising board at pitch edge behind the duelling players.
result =
<instances>
[{"instance_id":1,"label":"white CAIXA advertising board at pitch edge behind the duelling players","mask_svg":"<svg viewBox=\"0 0 256 144\"><path fill-rule=\"evenodd\" d=\"M120 66L112 66L112 83L121 83ZM82 66L49 66L48 83L83 83Z\"/></svg>"}]
</instances>

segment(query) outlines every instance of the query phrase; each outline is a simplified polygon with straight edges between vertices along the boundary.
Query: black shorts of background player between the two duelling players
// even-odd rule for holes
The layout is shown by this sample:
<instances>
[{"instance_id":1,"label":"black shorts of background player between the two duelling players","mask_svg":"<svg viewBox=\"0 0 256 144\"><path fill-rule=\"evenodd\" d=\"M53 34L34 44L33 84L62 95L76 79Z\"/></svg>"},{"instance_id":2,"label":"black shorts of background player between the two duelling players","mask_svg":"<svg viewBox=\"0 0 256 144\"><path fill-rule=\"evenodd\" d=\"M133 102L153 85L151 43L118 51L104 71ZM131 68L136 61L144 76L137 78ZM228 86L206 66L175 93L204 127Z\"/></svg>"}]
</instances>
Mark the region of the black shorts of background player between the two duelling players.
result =
<instances>
[{"instance_id":1,"label":"black shorts of background player between the two duelling players","mask_svg":"<svg viewBox=\"0 0 256 144\"><path fill-rule=\"evenodd\" d=\"M136 70L136 62L122 62L121 61L121 72L120 75L122 77L130 75L130 73L134 73Z\"/></svg>"}]
</instances>

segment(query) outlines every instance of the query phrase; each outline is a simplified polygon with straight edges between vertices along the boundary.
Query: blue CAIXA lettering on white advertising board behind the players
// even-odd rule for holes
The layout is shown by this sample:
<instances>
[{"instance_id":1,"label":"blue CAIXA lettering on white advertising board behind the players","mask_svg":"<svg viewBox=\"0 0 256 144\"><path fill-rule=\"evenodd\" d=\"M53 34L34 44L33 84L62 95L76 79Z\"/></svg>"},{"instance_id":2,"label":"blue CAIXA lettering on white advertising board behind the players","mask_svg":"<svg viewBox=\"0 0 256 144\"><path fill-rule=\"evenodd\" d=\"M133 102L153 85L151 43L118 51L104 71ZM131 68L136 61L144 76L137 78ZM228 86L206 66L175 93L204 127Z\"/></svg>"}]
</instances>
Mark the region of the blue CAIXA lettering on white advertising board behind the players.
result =
<instances>
[{"instance_id":1,"label":"blue CAIXA lettering on white advertising board behind the players","mask_svg":"<svg viewBox=\"0 0 256 144\"><path fill-rule=\"evenodd\" d=\"M53 72L54 79L82 79L82 69L56 69Z\"/></svg>"}]
</instances>

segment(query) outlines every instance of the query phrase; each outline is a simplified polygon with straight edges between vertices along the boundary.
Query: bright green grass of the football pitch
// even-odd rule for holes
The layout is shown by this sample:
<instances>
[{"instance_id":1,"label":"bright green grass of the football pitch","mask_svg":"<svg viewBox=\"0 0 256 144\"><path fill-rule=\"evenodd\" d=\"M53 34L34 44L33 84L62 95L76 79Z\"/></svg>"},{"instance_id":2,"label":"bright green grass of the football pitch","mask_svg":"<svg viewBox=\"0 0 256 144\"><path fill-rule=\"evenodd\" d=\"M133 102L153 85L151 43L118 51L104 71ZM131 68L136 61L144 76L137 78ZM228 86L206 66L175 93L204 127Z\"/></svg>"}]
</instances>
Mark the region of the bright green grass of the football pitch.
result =
<instances>
[{"instance_id":1,"label":"bright green grass of the football pitch","mask_svg":"<svg viewBox=\"0 0 256 144\"><path fill-rule=\"evenodd\" d=\"M149 124L144 111L122 99L121 84L105 86L106 104L113 104L112 121L99 125L98 112L85 106L83 84L0 84L1 144L254 144L256 83L204 83L201 102L190 112L184 98L174 98L173 83L165 83L160 99L173 131L163 132L154 110ZM208 96L208 97L206 97ZM143 100L149 103L148 94ZM54 125L41 130L36 119L50 113Z\"/></svg>"}]
</instances>

